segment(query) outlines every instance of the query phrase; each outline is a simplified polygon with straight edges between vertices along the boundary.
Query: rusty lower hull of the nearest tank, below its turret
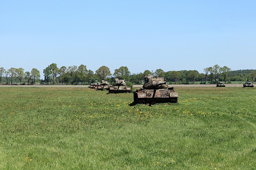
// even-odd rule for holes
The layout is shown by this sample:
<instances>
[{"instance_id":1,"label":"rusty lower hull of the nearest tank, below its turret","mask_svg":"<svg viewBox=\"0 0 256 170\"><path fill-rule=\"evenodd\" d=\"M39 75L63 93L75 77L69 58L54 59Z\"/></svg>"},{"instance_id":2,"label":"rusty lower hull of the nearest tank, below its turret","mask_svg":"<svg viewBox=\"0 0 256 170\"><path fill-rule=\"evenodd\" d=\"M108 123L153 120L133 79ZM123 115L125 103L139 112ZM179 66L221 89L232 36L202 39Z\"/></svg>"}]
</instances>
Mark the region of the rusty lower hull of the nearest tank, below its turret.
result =
<instances>
[{"instance_id":1,"label":"rusty lower hull of the nearest tank, below its turret","mask_svg":"<svg viewBox=\"0 0 256 170\"><path fill-rule=\"evenodd\" d=\"M177 103L178 93L170 89L140 89L133 92L135 103Z\"/></svg>"}]
</instances>

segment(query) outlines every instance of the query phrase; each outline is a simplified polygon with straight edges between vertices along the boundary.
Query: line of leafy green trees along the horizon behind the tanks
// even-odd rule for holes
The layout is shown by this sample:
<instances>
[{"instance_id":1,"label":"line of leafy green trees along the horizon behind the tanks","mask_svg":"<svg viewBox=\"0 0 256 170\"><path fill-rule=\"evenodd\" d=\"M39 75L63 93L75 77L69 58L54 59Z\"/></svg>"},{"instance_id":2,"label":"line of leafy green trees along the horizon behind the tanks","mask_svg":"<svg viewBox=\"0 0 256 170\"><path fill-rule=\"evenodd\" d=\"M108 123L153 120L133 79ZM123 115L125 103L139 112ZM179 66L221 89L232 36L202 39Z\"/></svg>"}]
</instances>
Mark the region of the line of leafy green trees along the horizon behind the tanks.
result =
<instances>
[{"instance_id":1,"label":"line of leafy green trees along the horizon behind the tanks","mask_svg":"<svg viewBox=\"0 0 256 170\"><path fill-rule=\"evenodd\" d=\"M107 66L101 66L95 73L92 70L87 70L86 65L80 66L61 66L58 68L56 63L48 65L44 70L44 79L40 79L40 71L36 68L24 72L23 68L10 68L8 70L0 67L0 84L13 84L19 82L20 85L33 85L36 82L40 84L90 84L93 82L100 82L107 80L110 83L115 78L124 79L133 84L141 84L144 82L144 77L152 74L156 77L164 77L167 82L173 84L194 84L200 82L201 84L216 84L218 81L230 83L231 81L254 81L256 77L256 70L235 70L232 71L229 67L220 67L218 64L204 68L204 73L199 73L197 70L180 70L167 71L162 69L144 70L144 72L133 73L129 71L126 66L121 66L115 69L111 74Z\"/></svg>"}]
</instances>

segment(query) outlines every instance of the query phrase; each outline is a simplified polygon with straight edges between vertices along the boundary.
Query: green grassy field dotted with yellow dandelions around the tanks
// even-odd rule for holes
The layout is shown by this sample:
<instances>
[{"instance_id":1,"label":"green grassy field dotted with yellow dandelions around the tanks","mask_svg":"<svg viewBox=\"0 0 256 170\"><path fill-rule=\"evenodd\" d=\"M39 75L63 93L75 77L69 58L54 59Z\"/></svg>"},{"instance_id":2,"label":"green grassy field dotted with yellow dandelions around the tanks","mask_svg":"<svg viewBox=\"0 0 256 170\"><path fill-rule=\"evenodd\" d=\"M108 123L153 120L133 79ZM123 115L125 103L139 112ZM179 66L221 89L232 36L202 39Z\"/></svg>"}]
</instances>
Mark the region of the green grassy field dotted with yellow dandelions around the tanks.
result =
<instances>
[{"instance_id":1,"label":"green grassy field dotted with yellow dandelions around the tanks","mask_svg":"<svg viewBox=\"0 0 256 170\"><path fill-rule=\"evenodd\" d=\"M177 87L179 102L81 87L0 88L0 169L254 169L256 88Z\"/></svg>"}]
</instances>

